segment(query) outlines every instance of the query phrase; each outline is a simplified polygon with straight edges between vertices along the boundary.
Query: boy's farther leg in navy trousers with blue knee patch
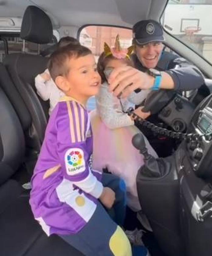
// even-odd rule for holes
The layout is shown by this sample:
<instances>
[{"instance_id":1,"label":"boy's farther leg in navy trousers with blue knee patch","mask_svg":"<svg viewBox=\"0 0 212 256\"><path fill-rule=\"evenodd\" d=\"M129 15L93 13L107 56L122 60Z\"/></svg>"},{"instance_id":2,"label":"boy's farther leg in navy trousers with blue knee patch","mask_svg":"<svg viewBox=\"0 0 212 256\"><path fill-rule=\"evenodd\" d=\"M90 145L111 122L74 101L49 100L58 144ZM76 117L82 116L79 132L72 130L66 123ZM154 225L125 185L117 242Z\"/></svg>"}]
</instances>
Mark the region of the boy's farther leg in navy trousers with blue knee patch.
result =
<instances>
[{"instance_id":1,"label":"boy's farther leg in navy trousers with blue knee patch","mask_svg":"<svg viewBox=\"0 0 212 256\"><path fill-rule=\"evenodd\" d=\"M113 208L108 210L108 213L118 225L123 226L127 204L126 185L119 177L106 173L103 173L102 184L104 187L113 189L113 191L116 193L115 203ZM114 217L112 216L113 214Z\"/></svg>"}]
</instances>

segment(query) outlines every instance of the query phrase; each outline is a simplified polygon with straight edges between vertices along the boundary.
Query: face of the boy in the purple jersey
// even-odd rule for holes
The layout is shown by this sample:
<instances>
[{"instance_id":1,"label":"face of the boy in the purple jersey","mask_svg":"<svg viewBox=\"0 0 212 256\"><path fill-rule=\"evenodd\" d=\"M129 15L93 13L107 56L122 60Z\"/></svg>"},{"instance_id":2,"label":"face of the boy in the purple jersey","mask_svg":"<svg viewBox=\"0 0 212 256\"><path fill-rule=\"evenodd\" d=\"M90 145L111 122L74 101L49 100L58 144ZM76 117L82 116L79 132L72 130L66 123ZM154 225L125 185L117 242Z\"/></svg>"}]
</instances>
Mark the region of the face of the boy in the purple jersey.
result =
<instances>
[{"instance_id":1,"label":"face of the boy in the purple jersey","mask_svg":"<svg viewBox=\"0 0 212 256\"><path fill-rule=\"evenodd\" d=\"M61 88L67 96L77 100L87 100L99 92L101 78L92 54L70 58L67 65L69 73L64 78L65 88Z\"/></svg>"}]
</instances>

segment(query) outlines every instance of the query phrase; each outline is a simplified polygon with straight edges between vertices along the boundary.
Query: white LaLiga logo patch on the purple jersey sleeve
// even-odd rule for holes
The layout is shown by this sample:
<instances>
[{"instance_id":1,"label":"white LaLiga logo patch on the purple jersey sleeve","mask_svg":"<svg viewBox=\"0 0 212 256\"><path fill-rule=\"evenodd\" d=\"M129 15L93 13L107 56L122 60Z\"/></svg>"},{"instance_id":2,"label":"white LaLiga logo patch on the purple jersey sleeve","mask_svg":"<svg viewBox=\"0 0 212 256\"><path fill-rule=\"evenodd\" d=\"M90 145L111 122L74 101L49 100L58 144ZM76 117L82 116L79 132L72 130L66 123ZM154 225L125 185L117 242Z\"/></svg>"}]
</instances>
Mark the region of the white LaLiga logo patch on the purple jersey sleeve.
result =
<instances>
[{"instance_id":1,"label":"white LaLiga logo patch on the purple jersey sleeve","mask_svg":"<svg viewBox=\"0 0 212 256\"><path fill-rule=\"evenodd\" d=\"M65 153L65 167L68 175L75 175L85 170L84 153L82 149L72 148Z\"/></svg>"}]
</instances>

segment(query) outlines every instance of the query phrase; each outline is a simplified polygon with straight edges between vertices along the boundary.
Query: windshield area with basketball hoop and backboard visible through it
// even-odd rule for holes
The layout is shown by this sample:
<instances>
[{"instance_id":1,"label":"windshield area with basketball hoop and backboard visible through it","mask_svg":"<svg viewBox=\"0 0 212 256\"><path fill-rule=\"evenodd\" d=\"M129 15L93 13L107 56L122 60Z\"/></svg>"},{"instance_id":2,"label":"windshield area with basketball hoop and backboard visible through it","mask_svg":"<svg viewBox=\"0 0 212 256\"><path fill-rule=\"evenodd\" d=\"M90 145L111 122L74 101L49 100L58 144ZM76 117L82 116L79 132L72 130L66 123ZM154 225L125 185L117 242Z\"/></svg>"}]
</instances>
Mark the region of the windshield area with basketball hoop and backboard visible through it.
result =
<instances>
[{"instance_id":1,"label":"windshield area with basketball hoop and backboard visible through it","mask_svg":"<svg viewBox=\"0 0 212 256\"><path fill-rule=\"evenodd\" d=\"M212 0L169 0L161 23L212 64Z\"/></svg>"}]
</instances>

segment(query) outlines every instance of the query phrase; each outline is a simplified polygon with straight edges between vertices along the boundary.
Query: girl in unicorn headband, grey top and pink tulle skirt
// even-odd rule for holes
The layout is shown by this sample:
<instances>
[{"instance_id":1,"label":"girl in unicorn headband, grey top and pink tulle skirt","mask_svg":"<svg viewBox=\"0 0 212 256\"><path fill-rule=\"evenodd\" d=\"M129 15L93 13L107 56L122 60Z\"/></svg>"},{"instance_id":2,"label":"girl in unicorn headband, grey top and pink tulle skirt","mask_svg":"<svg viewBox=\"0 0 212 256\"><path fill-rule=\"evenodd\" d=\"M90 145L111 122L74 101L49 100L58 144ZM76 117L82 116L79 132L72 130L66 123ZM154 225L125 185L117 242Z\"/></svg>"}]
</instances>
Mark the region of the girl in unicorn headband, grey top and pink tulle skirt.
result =
<instances>
[{"instance_id":1,"label":"girl in unicorn headband, grey top and pink tulle skirt","mask_svg":"<svg viewBox=\"0 0 212 256\"><path fill-rule=\"evenodd\" d=\"M134 125L133 118L123 113L123 109L127 110L140 104L149 90L132 93L127 99L118 99L109 92L105 75L109 68L133 66L130 60L132 52L133 46L121 49L118 35L114 48L110 49L106 43L104 44L104 52L100 55L97 64L102 85L96 96L97 108L90 113L90 119L94 136L93 167L97 170L107 168L112 174L124 179L127 185L127 205L137 212L141 210L141 206L137 195L136 176L144 160L131 142L132 137L140 131ZM141 108L137 108L134 112L141 114ZM146 138L145 142L148 152L157 157Z\"/></svg>"}]
</instances>

